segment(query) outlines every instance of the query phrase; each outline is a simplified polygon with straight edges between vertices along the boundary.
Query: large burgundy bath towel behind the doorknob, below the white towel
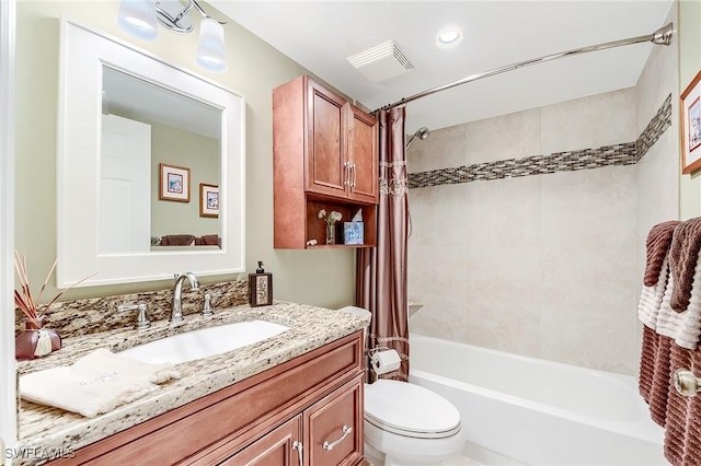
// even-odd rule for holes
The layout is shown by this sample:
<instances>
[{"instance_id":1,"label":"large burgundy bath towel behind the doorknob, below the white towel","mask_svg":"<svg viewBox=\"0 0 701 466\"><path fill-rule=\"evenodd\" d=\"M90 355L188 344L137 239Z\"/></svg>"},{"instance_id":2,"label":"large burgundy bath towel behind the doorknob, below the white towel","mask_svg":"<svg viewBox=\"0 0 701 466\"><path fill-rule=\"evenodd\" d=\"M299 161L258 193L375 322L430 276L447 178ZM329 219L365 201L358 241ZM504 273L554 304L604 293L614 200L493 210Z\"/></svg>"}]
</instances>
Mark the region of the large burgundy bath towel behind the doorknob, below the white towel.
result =
<instances>
[{"instance_id":1,"label":"large burgundy bath towel behind the doorknob, below the white towel","mask_svg":"<svg viewBox=\"0 0 701 466\"><path fill-rule=\"evenodd\" d=\"M689 369L701 375L701 348L688 350L671 345L669 401L665 426L665 457L675 466L701 464L701 396L686 397L674 388L671 374Z\"/></svg>"}]
</instances>

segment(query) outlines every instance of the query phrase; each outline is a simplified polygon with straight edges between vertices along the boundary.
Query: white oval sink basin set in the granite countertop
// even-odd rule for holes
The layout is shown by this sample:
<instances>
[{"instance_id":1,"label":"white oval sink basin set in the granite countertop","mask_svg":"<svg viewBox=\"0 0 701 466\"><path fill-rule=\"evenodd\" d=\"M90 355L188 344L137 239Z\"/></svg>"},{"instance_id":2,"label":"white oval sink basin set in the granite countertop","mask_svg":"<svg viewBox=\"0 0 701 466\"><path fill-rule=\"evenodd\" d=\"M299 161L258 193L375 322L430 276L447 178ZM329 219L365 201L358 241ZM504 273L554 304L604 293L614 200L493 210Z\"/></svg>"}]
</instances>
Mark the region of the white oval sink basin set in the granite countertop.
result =
<instances>
[{"instance_id":1,"label":"white oval sink basin set in the granite countertop","mask_svg":"<svg viewBox=\"0 0 701 466\"><path fill-rule=\"evenodd\" d=\"M179 364L253 345L289 330L265 321L246 321L173 335L119 352L137 361Z\"/></svg>"}]
</instances>

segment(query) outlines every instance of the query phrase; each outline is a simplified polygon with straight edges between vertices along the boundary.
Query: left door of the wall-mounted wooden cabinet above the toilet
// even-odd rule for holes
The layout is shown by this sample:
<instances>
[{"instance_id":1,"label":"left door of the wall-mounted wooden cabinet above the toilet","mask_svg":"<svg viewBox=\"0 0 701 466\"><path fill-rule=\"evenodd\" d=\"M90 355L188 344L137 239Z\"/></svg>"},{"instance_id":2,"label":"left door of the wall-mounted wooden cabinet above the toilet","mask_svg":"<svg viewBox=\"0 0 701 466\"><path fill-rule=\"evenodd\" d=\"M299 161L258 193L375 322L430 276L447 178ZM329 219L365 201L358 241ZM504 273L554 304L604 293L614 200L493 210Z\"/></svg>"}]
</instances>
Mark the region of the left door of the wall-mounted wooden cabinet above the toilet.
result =
<instances>
[{"instance_id":1,"label":"left door of the wall-mounted wooden cabinet above the toilet","mask_svg":"<svg viewBox=\"0 0 701 466\"><path fill-rule=\"evenodd\" d=\"M304 180L308 193L346 197L345 103L314 81L307 81Z\"/></svg>"}]
</instances>

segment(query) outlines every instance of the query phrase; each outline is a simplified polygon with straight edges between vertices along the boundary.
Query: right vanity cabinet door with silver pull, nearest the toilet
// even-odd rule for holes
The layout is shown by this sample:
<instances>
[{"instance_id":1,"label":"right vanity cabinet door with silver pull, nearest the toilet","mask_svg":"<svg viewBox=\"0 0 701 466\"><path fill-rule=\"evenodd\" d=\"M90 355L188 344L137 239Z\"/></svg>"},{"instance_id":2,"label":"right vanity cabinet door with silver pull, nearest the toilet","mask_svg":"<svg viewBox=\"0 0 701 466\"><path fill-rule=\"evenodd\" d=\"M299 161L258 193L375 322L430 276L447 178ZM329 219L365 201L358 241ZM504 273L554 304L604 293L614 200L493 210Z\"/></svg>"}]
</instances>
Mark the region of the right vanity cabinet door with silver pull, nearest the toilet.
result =
<instances>
[{"instance_id":1,"label":"right vanity cabinet door with silver pull, nearest the toilet","mask_svg":"<svg viewBox=\"0 0 701 466\"><path fill-rule=\"evenodd\" d=\"M363 375L304 410L304 465L363 459Z\"/></svg>"}]
</instances>

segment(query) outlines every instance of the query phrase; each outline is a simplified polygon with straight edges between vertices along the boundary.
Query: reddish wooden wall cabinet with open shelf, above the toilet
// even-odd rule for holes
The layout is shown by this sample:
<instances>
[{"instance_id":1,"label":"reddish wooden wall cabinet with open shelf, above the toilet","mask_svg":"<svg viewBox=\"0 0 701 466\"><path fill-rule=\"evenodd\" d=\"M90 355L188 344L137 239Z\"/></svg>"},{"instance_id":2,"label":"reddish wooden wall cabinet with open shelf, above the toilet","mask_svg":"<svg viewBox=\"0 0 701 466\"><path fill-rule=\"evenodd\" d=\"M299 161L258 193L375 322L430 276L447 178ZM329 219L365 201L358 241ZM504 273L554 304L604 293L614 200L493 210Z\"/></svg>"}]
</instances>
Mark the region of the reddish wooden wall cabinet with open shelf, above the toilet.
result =
<instances>
[{"instance_id":1,"label":"reddish wooden wall cabinet with open shelf, above the toilet","mask_svg":"<svg viewBox=\"0 0 701 466\"><path fill-rule=\"evenodd\" d=\"M378 123L309 77L273 90L274 245L279 248L377 244ZM358 211L363 245L325 245L320 209L344 221ZM308 246L317 240L317 246Z\"/></svg>"}]
</instances>

